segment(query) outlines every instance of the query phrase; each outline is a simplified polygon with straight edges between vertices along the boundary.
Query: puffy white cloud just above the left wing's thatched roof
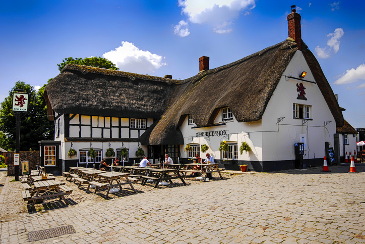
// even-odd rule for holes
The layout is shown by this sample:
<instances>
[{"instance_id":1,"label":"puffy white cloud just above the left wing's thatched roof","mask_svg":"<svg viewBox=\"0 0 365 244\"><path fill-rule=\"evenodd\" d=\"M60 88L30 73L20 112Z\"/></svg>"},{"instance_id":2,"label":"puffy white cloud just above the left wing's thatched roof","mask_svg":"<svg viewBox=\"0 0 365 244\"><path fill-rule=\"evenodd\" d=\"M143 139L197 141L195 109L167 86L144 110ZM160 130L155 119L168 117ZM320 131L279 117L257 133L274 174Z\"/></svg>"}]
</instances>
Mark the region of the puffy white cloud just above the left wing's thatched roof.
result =
<instances>
[{"instance_id":1,"label":"puffy white cloud just above the left wing's thatched roof","mask_svg":"<svg viewBox=\"0 0 365 244\"><path fill-rule=\"evenodd\" d=\"M103 54L103 57L113 62L121 71L147 74L167 65L164 57L140 50L133 43L122 41L121 46Z\"/></svg>"}]
</instances>

